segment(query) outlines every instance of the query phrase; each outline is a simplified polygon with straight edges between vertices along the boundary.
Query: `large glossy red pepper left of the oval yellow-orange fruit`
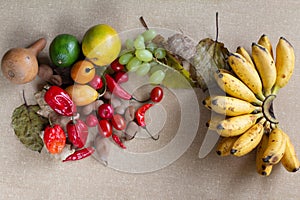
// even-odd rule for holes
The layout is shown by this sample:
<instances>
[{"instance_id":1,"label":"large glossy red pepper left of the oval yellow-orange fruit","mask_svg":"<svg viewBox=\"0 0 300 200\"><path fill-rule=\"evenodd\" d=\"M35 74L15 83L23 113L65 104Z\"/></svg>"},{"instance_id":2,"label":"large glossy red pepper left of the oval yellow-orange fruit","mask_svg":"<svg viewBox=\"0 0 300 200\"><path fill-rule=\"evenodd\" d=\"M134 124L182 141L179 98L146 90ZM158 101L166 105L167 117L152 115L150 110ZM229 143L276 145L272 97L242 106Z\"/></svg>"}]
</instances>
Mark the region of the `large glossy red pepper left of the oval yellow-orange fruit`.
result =
<instances>
[{"instance_id":1,"label":"large glossy red pepper left of the oval yellow-orange fruit","mask_svg":"<svg viewBox=\"0 0 300 200\"><path fill-rule=\"evenodd\" d=\"M72 116L76 106L68 93L58 86L51 86L45 93L46 103L58 114Z\"/></svg>"}]
</instances>

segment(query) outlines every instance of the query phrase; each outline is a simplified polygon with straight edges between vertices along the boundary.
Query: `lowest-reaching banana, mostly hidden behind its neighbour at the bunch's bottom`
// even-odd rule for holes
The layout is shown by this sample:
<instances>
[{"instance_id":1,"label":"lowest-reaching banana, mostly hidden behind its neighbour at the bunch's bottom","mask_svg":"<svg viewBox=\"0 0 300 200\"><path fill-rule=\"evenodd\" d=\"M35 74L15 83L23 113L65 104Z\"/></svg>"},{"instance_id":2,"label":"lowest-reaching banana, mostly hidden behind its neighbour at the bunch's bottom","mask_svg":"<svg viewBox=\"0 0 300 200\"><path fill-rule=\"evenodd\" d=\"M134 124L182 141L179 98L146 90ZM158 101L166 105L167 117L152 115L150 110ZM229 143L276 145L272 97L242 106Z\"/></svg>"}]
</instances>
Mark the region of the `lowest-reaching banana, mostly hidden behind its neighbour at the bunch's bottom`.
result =
<instances>
[{"instance_id":1,"label":"lowest-reaching banana, mostly hidden behind its neighbour at the bunch's bottom","mask_svg":"<svg viewBox=\"0 0 300 200\"><path fill-rule=\"evenodd\" d=\"M269 176L272 172L273 165L268 165L263 162L263 153L268 146L269 138L266 134L263 134L262 139L257 147L256 151L256 171L260 175Z\"/></svg>"}]
</instances>

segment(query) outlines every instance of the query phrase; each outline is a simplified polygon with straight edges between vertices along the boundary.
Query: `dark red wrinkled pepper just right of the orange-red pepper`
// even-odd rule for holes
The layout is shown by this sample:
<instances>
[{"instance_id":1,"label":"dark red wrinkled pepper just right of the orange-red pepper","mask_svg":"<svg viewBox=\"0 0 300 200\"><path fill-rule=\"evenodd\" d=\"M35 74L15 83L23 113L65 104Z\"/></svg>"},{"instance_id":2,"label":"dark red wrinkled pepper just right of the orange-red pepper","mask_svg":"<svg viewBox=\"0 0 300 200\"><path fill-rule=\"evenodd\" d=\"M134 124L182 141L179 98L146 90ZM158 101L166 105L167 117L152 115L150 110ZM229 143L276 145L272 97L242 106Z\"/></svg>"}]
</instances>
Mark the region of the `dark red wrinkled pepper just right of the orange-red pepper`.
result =
<instances>
[{"instance_id":1,"label":"dark red wrinkled pepper just right of the orange-red pepper","mask_svg":"<svg viewBox=\"0 0 300 200\"><path fill-rule=\"evenodd\" d=\"M84 147L89 130L88 126L81 120L70 120L67 124L68 138L77 148Z\"/></svg>"}]
</instances>

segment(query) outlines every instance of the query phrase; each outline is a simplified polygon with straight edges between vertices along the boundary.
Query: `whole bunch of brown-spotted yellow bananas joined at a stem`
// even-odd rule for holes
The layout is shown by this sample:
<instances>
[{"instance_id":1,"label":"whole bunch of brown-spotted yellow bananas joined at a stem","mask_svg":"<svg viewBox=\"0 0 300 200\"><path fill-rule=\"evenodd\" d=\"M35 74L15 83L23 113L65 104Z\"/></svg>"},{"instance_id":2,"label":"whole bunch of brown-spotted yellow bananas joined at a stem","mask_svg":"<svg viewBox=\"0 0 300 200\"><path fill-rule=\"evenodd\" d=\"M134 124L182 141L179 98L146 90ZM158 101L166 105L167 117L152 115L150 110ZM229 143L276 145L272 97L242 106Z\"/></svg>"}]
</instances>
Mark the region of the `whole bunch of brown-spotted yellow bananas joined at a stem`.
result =
<instances>
[{"instance_id":1,"label":"whole bunch of brown-spotted yellow bananas joined at a stem","mask_svg":"<svg viewBox=\"0 0 300 200\"><path fill-rule=\"evenodd\" d=\"M207 122L221 139L220 156L244 156L256 149L256 169L270 175L281 162L289 172L299 170L299 160L289 138L279 127L273 112L273 100L294 70L292 45L283 37L276 46L276 59L270 40L262 35L252 43L252 54L243 47L228 57L232 71L218 70L215 80L226 96L209 96L203 104L215 115Z\"/></svg>"}]
</instances>

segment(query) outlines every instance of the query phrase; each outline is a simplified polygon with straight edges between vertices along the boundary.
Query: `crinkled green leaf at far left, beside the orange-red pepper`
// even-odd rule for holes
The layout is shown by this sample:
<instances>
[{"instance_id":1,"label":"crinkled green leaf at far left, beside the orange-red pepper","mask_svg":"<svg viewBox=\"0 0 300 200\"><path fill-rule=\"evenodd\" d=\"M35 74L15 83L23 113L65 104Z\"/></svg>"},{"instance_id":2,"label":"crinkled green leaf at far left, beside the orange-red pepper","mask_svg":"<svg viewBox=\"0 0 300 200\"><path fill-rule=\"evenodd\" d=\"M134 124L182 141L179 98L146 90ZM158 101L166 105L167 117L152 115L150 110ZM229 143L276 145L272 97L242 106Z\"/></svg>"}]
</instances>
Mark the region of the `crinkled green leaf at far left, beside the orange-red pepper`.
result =
<instances>
[{"instance_id":1,"label":"crinkled green leaf at far left, beside the orange-red pepper","mask_svg":"<svg viewBox=\"0 0 300 200\"><path fill-rule=\"evenodd\" d=\"M44 142L40 137L41 131L48 124L48 119L37 114L38 105L23 104L12 114L12 127L16 136L27 148L41 152Z\"/></svg>"}]
</instances>

